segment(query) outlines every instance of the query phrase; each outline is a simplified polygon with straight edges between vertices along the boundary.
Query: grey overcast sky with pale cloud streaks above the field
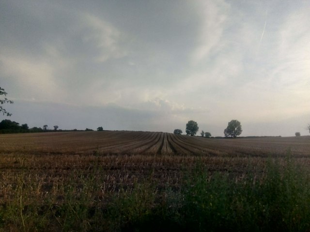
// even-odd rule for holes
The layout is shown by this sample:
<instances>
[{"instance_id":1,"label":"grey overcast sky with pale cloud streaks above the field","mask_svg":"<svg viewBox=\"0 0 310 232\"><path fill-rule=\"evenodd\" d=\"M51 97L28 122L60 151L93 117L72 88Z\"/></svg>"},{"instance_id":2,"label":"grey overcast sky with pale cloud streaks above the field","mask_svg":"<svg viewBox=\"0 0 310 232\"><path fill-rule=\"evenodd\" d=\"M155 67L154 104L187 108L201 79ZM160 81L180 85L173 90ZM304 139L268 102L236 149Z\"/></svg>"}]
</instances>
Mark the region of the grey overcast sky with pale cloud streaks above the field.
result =
<instances>
[{"instance_id":1,"label":"grey overcast sky with pale cloud streaks above the field","mask_svg":"<svg viewBox=\"0 0 310 232\"><path fill-rule=\"evenodd\" d=\"M310 0L0 0L0 87L30 127L307 135Z\"/></svg>"}]
</instances>

